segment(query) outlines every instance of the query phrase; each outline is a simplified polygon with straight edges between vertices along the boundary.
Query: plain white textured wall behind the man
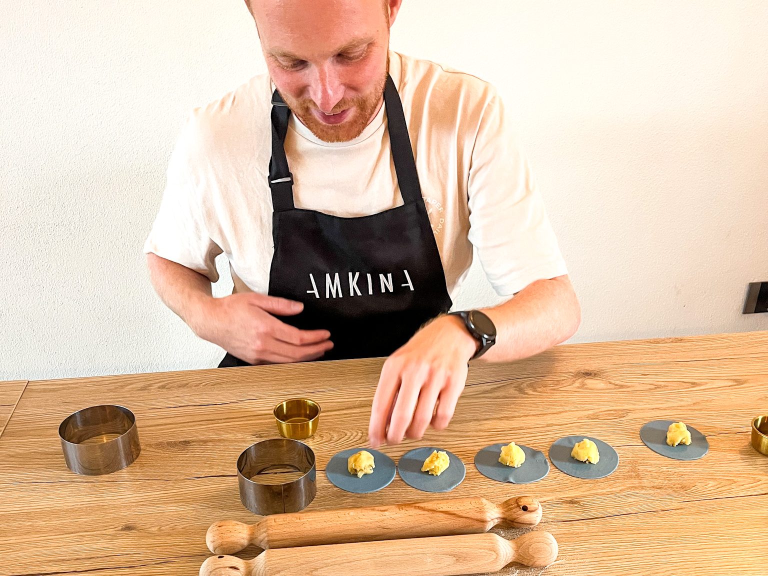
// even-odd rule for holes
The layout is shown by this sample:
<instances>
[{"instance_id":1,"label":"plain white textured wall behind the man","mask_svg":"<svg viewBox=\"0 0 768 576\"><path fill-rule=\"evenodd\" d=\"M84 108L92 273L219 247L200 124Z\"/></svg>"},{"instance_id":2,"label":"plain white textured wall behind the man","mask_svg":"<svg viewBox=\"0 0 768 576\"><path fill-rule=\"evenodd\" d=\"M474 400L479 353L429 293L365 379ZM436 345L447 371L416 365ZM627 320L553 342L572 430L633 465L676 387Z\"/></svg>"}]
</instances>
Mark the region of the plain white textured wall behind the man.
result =
<instances>
[{"instance_id":1,"label":"plain white textured wall behind the man","mask_svg":"<svg viewBox=\"0 0 768 576\"><path fill-rule=\"evenodd\" d=\"M763 0L405 0L392 47L505 94L579 342L768 329L740 313L768 280L766 30ZM188 109L264 71L241 0L3 0L0 55L0 379L214 366L141 246ZM457 305L496 300L473 270Z\"/></svg>"}]
</instances>

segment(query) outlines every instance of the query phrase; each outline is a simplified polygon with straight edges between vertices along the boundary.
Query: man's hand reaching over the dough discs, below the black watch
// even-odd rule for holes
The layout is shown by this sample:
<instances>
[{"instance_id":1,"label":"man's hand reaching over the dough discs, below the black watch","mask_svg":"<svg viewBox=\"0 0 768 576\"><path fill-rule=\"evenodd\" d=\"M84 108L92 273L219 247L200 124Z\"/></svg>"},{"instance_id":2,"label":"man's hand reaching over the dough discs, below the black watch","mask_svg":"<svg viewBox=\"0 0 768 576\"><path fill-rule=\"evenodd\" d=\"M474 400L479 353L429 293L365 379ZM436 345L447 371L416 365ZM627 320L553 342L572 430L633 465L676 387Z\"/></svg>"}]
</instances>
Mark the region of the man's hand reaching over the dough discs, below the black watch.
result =
<instances>
[{"instance_id":1,"label":"man's hand reaching over the dough discs, below the black watch","mask_svg":"<svg viewBox=\"0 0 768 576\"><path fill-rule=\"evenodd\" d=\"M384 362L373 397L368 437L373 448L420 439L431 423L444 429L467 380L477 341L458 316L439 316Z\"/></svg>"}]
</instances>

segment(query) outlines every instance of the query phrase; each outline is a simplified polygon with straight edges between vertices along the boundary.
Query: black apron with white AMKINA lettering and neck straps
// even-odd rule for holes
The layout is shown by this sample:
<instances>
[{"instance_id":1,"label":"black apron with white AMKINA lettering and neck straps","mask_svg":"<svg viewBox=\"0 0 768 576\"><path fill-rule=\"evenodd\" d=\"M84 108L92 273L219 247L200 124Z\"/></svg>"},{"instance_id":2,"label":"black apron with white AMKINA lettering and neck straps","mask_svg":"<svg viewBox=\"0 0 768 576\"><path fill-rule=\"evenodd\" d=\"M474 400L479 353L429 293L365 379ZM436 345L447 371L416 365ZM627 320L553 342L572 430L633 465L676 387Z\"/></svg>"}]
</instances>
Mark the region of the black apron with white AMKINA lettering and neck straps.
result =
<instances>
[{"instance_id":1,"label":"black apron with white AMKINA lettering and neck straps","mask_svg":"<svg viewBox=\"0 0 768 576\"><path fill-rule=\"evenodd\" d=\"M440 254L422 199L397 88L384 91L389 141L404 204L345 218L293 205L285 142L290 109L272 97L272 236L270 296L304 303L280 319L300 329L327 329L321 359L389 356L429 319L451 308ZM220 367L250 366L227 354Z\"/></svg>"}]
</instances>

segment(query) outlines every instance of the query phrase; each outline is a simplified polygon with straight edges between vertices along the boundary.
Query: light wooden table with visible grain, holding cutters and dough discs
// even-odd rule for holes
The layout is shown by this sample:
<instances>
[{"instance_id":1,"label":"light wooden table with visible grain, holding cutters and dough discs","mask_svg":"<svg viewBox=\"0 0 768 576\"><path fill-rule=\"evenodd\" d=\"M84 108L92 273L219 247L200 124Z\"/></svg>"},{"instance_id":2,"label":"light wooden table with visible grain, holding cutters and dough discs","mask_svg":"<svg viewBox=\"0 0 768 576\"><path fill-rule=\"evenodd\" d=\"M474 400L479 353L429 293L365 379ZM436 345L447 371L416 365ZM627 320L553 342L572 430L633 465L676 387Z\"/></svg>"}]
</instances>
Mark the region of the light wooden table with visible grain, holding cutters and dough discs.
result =
<instances>
[{"instance_id":1,"label":"light wooden table with visible grain, holding cutters and dough discs","mask_svg":"<svg viewBox=\"0 0 768 576\"><path fill-rule=\"evenodd\" d=\"M271 409L296 395L323 407L307 442L319 471L308 510L439 498L399 478L382 492L351 495L323 473L337 451L366 445L381 362L29 382L0 439L0 574L197 574L210 555L204 536L212 522L257 520L240 504L235 462L248 445L276 435ZM74 475L58 424L102 403L134 411L141 456L112 475ZM750 445L750 419L766 412L768 332L558 346L514 364L472 366L448 430L383 452L396 459L416 445L455 452L467 475L451 496L539 498L540 528L561 549L544 574L756 576L768 572L768 458ZM638 432L653 419L694 425L710 453L677 462L650 452ZM515 486L488 480L472 464L494 442L546 453L570 434L610 442L621 458L617 472L584 481L553 467L541 482ZM513 564L500 574L541 573Z\"/></svg>"}]
</instances>

